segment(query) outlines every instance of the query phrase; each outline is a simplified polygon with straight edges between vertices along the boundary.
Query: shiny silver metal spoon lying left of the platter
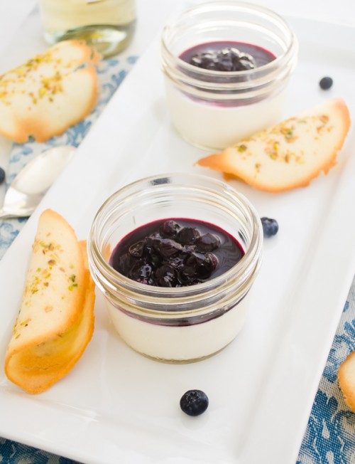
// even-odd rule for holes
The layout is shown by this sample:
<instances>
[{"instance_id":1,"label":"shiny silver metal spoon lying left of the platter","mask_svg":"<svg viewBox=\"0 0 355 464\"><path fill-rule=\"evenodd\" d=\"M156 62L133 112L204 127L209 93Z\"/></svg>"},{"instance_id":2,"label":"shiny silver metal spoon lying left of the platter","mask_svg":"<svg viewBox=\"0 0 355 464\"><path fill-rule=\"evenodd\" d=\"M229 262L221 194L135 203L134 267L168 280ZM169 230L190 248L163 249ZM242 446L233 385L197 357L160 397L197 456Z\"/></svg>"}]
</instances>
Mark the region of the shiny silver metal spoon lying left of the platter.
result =
<instances>
[{"instance_id":1,"label":"shiny silver metal spoon lying left of the platter","mask_svg":"<svg viewBox=\"0 0 355 464\"><path fill-rule=\"evenodd\" d=\"M0 219L31 216L74 152L70 146L53 147L26 164L6 191Z\"/></svg>"}]
</instances>

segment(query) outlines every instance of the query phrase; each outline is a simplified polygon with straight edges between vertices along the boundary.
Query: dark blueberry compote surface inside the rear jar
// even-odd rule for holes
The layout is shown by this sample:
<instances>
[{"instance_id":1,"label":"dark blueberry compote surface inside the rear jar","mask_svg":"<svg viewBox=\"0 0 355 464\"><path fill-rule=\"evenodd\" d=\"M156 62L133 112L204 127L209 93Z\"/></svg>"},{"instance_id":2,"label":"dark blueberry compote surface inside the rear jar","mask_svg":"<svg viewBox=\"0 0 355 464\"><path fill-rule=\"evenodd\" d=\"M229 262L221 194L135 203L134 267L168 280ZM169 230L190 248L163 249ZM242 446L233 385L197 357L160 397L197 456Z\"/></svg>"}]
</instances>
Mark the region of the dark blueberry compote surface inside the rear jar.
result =
<instances>
[{"instance_id":1,"label":"dark blueberry compote surface inside the rear jar","mask_svg":"<svg viewBox=\"0 0 355 464\"><path fill-rule=\"evenodd\" d=\"M275 55L252 43L219 41L202 43L181 53L186 63L214 71L244 71L266 65Z\"/></svg>"}]
</instances>

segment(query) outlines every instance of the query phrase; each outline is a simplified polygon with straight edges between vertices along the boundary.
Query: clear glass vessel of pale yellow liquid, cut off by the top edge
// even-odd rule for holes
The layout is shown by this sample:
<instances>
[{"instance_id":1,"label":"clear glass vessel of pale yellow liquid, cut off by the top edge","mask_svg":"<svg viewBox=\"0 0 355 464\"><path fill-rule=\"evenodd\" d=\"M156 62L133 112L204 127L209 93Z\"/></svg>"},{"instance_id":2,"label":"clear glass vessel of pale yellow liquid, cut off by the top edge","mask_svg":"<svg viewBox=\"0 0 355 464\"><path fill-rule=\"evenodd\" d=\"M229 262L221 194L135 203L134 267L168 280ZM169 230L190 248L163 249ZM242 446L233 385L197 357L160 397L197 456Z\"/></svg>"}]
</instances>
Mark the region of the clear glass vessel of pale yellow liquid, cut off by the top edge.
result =
<instances>
[{"instance_id":1,"label":"clear glass vessel of pale yellow liquid, cut off by the top edge","mask_svg":"<svg viewBox=\"0 0 355 464\"><path fill-rule=\"evenodd\" d=\"M124 50L133 36L134 0L39 0L39 6L50 44L80 39L108 57Z\"/></svg>"}]
</instances>

